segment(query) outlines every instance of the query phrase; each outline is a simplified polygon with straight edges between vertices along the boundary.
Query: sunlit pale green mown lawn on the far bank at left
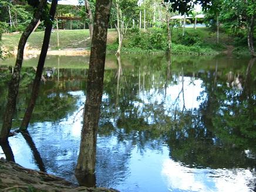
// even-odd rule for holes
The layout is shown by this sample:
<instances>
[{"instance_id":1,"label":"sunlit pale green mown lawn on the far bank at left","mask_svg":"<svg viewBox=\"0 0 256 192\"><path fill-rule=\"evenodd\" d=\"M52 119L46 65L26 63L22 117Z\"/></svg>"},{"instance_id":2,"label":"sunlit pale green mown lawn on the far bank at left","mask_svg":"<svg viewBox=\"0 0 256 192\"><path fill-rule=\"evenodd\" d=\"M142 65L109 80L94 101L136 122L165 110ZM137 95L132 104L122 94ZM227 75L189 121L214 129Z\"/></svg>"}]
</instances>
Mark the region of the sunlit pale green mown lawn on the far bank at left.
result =
<instances>
[{"instance_id":1,"label":"sunlit pale green mown lawn on the far bank at left","mask_svg":"<svg viewBox=\"0 0 256 192\"><path fill-rule=\"evenodd\" d=\"M41 49L43 35L44 32L33 32L28 39L29 47L32 47L33 49ZM18 47L20 37L21 33L3 34L2 42L4 46L9 48ZM108 37L110 42L112 42L113 39L116 39L117 34L113 29L110 29ZM57 31L55 30L50 37L49 48L52 50L90 47L89 30L59 30L59 43L60 46L57 47Z\"/></svg>"}]
</instances>

